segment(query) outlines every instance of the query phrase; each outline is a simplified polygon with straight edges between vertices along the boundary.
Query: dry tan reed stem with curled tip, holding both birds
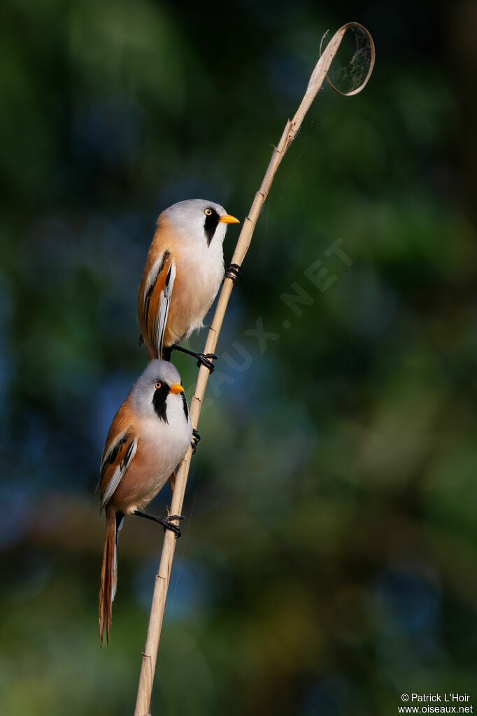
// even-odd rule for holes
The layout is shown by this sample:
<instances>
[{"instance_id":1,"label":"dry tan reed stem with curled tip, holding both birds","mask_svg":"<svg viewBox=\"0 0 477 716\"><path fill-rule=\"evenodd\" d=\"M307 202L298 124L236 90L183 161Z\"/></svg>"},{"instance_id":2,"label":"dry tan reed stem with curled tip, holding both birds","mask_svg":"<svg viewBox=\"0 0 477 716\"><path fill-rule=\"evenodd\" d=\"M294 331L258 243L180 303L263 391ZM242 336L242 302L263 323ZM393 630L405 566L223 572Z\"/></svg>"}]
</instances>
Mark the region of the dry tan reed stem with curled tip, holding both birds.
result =
<instances>
[{"instance_id":1,"label":"dry tan reed stem with curled tip, holding both birds","mask_svg":"<svg viewBox=\"0 0 477 716\"><path fill-rule=\"evenodd\" d=\"M340 47L345 32L350 27L357 29L358 32L361 32L368 38L370 53L369 69L365 79L360 82L358 87L353 88L352 90L350 90L350 92L340 92L340 94L347 95L348 97L351 95L357 95L358 92L360 92L367 84L371 72L373 72L373 66L375 61L375 49L373 39L370 36L368 30L366 30L362 25L356 22L348 22L347 24L343 25L343 27L341 27L338 32L336 32L330 39L330 42L328 43L323 54L321 54L320 59L318 60L315 69L313 70L313 73L310 77L310 82L308 82L308 87L300 104L300 107L298 107L297 109L295 117L293 117L291 121L288 120L287 124L285 125L285 130L283 130L280 142L278 143L277 147L275 147L275 150L272 153L272 158L270 160L270 164L268 165L267 171L265 172L265 177L262 180L262 185L255 194L255 199L253 200L252 207L250 208L250 213L245 219L244 224L242 226L242 231L240 232L237 246L235 246L235 251L232 256L232 263L237 263L239 266L242 264L245 254L248 251L248 247L250 246L252 233L255 229L255 224L257 223L257 218L260 215L262 205L267 198L268 192L270 191L275 172L277 171L277 168L280 165L280 162L284 157L288 147L290 147L290 144L295 138L297 131L300 129L303 119L308 110L310 109L310 105L315 99L318 90L322 86L325 77L327 77L330 64L331 62L333 62L333 58L335 57L336 52L338 52L338 47ZM329 79L328 82L330 82ZM330 85L331 87L333 87L333 89L336 89L331 82ZM336 91L339 92L339 90ZM220 291L219 300L217 302L217 309L215 309L212 326L210 326L209 333L207 334L207 341L205 342L204 349L205 353L215 352L215 347L217 346L217 339L219 337L220 329L222 327L222 321L224 320L225 311L227 309L227 304L229 302L230 294L232 292L232 286L232 279L225 279L224 284L222 286L222 291ZM205 366L201 366L197 377L194 397L192 397L192 402L190 405L192 425L196 428L199 422L200 409L202 407L202 400L204 399L205 387L207 386L208 377L209 370ZM170 508L172 515L180 515L182 511L182 503L184 501L185 487L187 483L187 475L189 474L191 456L192 448L189 448L189 450L187 451L187 455L185 455L184 460L182 460L182 463L180 463L179 468L177 469L174 493L172 494L172 503ZM174 558L174 548L175 536L171 531L166 531L166 533L164 534L164 545L162 547L159 571L156 575L154 595L152 597L151 615L149 617L149 628L147 630L147 641L146 646L144 648L144 652L142 653L141 674L139 676L139 688L137 691L137 702L134 716L149 716L149 705L151 702L152 694L152 682L154 680L154 672L156 669L157 649L159 648L159 638L162 629L162 619L164 617L164 608L166 604L167 588L169 586L169 577L172 569L172 559Z\"/></svg>"}]
</instances>

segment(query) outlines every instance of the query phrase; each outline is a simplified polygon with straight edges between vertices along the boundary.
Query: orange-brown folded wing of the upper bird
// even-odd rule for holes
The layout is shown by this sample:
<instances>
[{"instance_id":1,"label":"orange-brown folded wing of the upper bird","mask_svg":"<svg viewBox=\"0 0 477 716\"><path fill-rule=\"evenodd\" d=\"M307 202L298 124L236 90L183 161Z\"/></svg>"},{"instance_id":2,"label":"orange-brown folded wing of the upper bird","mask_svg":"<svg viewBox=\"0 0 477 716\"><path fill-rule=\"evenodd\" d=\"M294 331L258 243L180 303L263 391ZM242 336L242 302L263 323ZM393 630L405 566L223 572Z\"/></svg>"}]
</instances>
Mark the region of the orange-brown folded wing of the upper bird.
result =
<instances>
[{"instance_id":1,"label":"orange-brown folded wing of the upper bird","mask_svg":"<svg viewBox=\"0 0 477 716\"><path fill-rule=\"evenodd\" d=\"M137 301L137 316L149 359L160 358L176 266L174 238L167 220L159 218L147 255Z\"/></svg>"}]
</instances>

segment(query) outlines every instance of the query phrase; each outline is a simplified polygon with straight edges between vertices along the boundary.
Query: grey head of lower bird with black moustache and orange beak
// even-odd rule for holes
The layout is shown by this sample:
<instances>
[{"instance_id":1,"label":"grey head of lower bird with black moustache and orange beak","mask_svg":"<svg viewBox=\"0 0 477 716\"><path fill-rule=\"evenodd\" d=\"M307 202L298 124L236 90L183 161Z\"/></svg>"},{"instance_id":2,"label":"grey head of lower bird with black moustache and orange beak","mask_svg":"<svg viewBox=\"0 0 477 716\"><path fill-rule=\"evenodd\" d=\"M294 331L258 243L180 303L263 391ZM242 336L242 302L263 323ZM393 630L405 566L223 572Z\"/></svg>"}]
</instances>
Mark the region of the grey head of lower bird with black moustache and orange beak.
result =
<instances>
[{"instance_id":1,"label":"grey head of lower bird with black moustache and orange beak","mask_svg":"<svg viewBox=\"0 0 477 716\"><path fill-rule=\"evenodd\" d=\"M158 417L167 422L167 405L171 400L181 400L185 419L188 410L180 382L180 373L172 363L153 360L131 388L131 397L138 415Z\"/></svg>"}]
</instances>

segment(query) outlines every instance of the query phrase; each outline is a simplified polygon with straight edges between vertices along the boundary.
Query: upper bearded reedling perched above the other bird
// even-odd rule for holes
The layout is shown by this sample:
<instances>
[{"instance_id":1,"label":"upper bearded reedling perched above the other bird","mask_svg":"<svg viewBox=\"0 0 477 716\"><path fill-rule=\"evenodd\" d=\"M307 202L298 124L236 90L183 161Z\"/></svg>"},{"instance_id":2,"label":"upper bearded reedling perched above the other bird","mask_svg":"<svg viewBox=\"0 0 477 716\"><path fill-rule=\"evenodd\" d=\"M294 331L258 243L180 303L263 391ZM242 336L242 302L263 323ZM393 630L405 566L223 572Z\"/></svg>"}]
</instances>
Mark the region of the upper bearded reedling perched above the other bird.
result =
<instances>
[{"instance_id":1,"label":"upper bearded reedling perched above the other bird","mask_svg":"<svg viewBox=\"0 0 477 716\"><path fill-rule=\"evenodd\" d=\"M149 360L170 359L177 349L207 365L216 356L179 348L202 327L224 275L237 279L239 267L225 272L222 243L227 224L237 223L223 206L191 199L169 206L157 219L137 300L142 340Z\"/></svg>"}]
</instances>

